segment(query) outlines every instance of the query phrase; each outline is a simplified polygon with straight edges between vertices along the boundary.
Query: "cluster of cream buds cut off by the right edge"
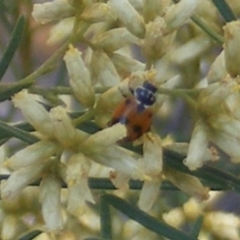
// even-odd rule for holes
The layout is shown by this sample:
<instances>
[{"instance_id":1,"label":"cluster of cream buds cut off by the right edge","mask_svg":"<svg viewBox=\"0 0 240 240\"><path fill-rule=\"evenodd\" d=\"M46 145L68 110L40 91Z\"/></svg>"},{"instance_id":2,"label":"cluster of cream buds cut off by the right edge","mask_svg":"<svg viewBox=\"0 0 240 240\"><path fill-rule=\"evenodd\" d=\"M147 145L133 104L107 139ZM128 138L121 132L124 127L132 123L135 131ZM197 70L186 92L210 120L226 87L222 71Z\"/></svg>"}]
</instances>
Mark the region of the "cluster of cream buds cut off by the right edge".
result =
<instances>
[{"instance_id":1,"label":"cluster of cream buds cut off by the right edge","mask_svg":"<svg viewBox=\"0 0 240 240\"><path fill-rule=\"evenodd\" d=\"M212 64L207 75L208 85L202 89L197 100L199 119L185 160L192 170L209 160L204 154L209 142L228 154L233 162L239 162L239 30L239 21L225 25L224 50Z\"/></svg>"}]
</instances>

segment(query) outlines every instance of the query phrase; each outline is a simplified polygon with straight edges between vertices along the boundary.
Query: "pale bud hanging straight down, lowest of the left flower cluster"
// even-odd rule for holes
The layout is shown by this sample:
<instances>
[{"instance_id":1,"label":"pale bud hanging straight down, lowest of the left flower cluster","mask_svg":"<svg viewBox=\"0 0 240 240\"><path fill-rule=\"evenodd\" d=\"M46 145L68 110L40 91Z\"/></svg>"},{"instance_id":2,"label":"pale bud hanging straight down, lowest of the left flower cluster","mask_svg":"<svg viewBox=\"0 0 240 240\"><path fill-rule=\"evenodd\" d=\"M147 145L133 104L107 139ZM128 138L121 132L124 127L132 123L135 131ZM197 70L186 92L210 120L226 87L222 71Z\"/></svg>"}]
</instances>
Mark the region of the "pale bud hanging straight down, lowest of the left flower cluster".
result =
<instances>
[{"instance_id":1,"label":"pale bud hanging straight down, lowest of the left flower cluster","mask_svg":"<svg viewBox=\"0 0 240 240\"><path fill-rule=\"evenodd\" d=\"M60 230L63 227L61 214L61 182L54 175L47 175L40 185L42 215L48 231Z\"/></svg>"}]
</instances>

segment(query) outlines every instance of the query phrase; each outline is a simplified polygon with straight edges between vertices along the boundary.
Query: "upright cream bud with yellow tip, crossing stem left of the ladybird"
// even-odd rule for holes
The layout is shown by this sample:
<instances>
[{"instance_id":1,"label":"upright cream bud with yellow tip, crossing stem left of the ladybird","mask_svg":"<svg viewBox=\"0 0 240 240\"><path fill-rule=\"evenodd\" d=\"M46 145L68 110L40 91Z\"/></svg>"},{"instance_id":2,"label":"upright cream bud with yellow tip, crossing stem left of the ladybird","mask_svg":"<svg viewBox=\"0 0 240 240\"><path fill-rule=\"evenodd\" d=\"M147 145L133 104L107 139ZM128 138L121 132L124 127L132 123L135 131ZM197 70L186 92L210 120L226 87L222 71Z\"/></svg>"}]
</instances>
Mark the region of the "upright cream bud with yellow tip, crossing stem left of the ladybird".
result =
<instances>
[{"instance_id":1,"label":"upright cream bud with yellow tip, crossing stem left of the ladybird","mask_svg":"<svg viewBox=\"0 0 240 240\"><path fill-rule=\"evenodd\" d=\"M85 107L92 107L95 101L90 72L79 52L72 45L64 56L70 85L77 100Z\"/></svg>"}]
</instances>

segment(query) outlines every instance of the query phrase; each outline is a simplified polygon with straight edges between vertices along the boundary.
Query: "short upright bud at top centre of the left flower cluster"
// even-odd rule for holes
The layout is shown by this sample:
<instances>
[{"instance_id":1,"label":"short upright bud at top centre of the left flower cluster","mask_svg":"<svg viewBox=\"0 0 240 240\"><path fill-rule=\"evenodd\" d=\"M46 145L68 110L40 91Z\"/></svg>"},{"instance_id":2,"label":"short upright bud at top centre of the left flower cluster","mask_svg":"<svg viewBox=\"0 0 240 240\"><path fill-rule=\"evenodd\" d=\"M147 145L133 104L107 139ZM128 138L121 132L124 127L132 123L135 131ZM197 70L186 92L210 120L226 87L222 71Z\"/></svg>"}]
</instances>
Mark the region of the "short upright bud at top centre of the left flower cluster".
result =
<instances>
[{"instance_id":1,"label":"short upright bud at top centre of the left flower cluster","mask_svg":"<svg viewBox=\"0 0 240 240\"><path fill-rule=\"evenodd\" d=\"M64 148L75 149L86 138L84 133L77 131L73 126L72 120L63 107L52 108L49 115L54 126L54 136Z\"/></svg>"}]
</instances>

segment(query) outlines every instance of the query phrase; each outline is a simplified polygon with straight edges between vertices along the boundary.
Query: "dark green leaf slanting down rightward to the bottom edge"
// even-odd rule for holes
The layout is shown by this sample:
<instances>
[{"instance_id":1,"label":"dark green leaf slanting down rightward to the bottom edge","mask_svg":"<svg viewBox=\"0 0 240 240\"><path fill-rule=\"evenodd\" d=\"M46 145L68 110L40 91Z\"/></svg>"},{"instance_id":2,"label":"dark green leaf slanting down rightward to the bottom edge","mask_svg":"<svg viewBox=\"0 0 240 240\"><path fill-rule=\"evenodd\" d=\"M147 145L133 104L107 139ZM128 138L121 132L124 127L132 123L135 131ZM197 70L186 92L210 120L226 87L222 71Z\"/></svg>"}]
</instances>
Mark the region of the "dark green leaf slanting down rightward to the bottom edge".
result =
<instances>
[{"instance_id":1,"label":"dark green leaf slanting down rightward to the bottom edge","mask_svg":"<svg viewBox=\"0 0 240 240\"><path fill-rule=\"evenodd\" d=\"M102 198L129 218L163 237L171 240L197 240L197 238L189 236L181 230L173 228L164 222L158 221L156 218L148 215L146 212L127 203L121 198L110 194L103 195Z\"/></svg>"}]
</instances>

